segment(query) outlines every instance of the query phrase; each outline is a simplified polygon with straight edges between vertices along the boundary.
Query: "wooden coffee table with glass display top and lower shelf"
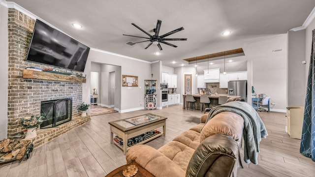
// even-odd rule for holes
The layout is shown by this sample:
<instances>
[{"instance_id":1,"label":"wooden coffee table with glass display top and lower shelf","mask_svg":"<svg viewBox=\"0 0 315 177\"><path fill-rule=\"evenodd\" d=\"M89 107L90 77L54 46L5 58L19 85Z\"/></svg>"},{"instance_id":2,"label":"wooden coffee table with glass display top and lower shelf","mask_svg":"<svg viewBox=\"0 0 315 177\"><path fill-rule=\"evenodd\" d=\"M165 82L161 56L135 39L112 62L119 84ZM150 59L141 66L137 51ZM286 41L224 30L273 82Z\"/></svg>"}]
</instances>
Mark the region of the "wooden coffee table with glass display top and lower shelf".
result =
<instances>
[{"instance_id":1,"label":"wooden coffee table with glass display top and lower shelf","mask_svg":"<svg viewBox=\"0 0 315 177\"><path fill-rule=\"evenodd\" d=\"M110 143L123 149L124 154L126 154L126 151L132 146L144 144L162 135L165 136L166 119L162 116L146 114L108 122L110 125ZM154 131L159 127L163 127L163 132ZM118 136L115 137L115 141L113 140L114 134ZM139 137L142 141L139 141Z\"/></svg>"}]
</instances>

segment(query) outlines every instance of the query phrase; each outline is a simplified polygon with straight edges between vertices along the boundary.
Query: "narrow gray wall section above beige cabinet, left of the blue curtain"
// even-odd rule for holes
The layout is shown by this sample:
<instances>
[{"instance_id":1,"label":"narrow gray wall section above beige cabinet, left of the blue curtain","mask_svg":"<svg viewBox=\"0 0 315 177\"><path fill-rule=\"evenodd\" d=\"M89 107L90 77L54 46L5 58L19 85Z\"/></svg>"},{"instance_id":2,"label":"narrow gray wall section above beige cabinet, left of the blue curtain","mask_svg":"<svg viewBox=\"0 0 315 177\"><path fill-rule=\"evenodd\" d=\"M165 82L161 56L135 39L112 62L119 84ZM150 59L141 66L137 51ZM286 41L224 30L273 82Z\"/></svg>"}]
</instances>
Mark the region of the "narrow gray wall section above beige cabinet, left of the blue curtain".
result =
<instances>
[{"instance_id":1,"label":"narrow gray wall section above beige cabinet, left of the blue curtain","mask_svg":"<svg viewBox=\"0 0 315 177\"><path fill-rule=\"evenodd\" d=\"M287 56L287 106L303 106L305 103L305 30L288 31Z\"/></svg>"}]
</instances>

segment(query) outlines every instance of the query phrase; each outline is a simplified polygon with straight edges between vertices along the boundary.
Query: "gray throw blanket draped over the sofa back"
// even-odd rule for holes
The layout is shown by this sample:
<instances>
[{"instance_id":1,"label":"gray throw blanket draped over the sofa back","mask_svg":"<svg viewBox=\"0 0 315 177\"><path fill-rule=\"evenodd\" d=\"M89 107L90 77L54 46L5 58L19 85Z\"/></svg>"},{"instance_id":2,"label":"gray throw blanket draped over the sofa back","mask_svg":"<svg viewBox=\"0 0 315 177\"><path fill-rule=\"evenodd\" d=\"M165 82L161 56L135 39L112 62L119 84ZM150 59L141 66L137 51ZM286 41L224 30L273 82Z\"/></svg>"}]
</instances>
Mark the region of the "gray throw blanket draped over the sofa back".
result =
<instances>
[{"instance_id":1,"label":"gray throw blanket draped over the sofa back","mask_svg":"<svg viewBox=\"0 0 315 177\"><path fill-rule=\"evenodd\" d=\"M261 138L268 136L264 123L251 105L241 101L232 101L213 108L206 123L217 114L226 111L236 113L244 118L244 161L257 165L259 143Z\"/></svg>"}]
</instances>

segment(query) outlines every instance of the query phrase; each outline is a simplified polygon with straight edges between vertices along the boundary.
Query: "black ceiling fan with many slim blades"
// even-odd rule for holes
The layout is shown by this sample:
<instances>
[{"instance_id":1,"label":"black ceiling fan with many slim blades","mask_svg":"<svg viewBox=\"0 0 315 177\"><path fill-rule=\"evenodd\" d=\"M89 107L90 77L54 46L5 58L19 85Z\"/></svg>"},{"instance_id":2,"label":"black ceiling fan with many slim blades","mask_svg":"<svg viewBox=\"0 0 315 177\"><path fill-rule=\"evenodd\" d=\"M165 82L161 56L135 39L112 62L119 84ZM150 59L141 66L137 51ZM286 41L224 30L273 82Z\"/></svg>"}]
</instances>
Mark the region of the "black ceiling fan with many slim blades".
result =
<instances>
[{"instance_id":1,"label":"black ceiling fan with many slim blades","mask_svg":"<svg viewBox=\"0 0 315 177\"><path fill-rule=\"evenodd\" d=\"M132 23L131 25L135 26L137 29L140 29L142 32L146 33L149 37L141 37L141 36L134 36L134 35L127 35L127 34L123 34L123 35L126 35L126 36L131 36L131 37L139 37L139 38L145 38L145 39L149 39L149 40L145 40L145 41L140 41L140 42L134 42L135 44L136 43L141 43L141 42L149 42L150 41L150 44L147 45L146 48L144 49L147 49L148 47L150 47L152 44L155 44L158 46L158 49L159 50L162 50L162 47L160 45L160 43L163 43L163 44L166 44L166 45L169 45L169 46L172 46L172 47L177 47L176 45L173 45L171 43L168 43L168 42L165 42L165 41L169 41L169 40L187 40L187 38L164 38L166 36L169 36L171 34L174 34L175 32L178 32L178 31L181 31L183 30L184 28L181 27L179 29L175 29L175 30L172 30L170 32L167 32L166 34L163 34L163 35L158 35L158 32L159 32L159 29L161 28L161 23L162 21L158 20L158 23L157 23L157 28L154 29L153 31L155 32L154 35L151 35L149 34L148 32L146 32L145 30L141 29L140 27L138 27L136 24Z\"/></svg>"}]
</instances>

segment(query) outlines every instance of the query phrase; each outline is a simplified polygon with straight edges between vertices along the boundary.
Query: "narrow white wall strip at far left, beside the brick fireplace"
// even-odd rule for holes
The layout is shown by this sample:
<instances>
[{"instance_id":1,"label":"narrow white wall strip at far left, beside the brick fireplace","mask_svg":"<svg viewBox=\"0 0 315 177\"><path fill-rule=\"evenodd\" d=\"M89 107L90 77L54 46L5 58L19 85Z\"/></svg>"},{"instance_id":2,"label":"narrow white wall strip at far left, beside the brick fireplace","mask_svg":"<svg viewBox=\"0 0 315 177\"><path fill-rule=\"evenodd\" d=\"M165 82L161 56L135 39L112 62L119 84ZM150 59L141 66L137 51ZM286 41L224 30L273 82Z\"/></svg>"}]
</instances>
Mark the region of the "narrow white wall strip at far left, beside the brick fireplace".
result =
<instances>
[{"instance_id":1,"label":"narrow white wall strip at far left, beside the brick fireplace","mask_svg":"<svg viewBox=\"0 0 315 177\"><path fill-rule=\"evenodd\" d=\"M0 140L6 138L8 125L8 9L0 5Z\"/></svg>"}]
</instances>

